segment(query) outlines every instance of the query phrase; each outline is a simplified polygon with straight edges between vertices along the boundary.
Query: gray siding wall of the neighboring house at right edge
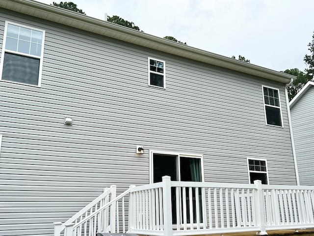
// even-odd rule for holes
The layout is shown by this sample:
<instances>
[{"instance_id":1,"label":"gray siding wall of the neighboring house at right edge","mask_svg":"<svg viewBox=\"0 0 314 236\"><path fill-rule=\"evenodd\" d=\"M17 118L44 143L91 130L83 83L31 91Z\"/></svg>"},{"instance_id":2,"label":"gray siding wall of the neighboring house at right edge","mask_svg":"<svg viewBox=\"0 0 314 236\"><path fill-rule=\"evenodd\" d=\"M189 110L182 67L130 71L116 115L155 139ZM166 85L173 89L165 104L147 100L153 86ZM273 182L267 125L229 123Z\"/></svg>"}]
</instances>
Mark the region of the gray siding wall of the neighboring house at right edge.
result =
<instances>
[{"instance_id":1,"label":"gray siding wall of the neighboring house at right edge","mask_svg":"<svg viewBox=\"0 0 314 236\"><path fill-rule=\"evenodd\" d=\"M314 185L314 87L310 87L291 108L294 146L302 185Z\"/></svg>"}]
</instances>

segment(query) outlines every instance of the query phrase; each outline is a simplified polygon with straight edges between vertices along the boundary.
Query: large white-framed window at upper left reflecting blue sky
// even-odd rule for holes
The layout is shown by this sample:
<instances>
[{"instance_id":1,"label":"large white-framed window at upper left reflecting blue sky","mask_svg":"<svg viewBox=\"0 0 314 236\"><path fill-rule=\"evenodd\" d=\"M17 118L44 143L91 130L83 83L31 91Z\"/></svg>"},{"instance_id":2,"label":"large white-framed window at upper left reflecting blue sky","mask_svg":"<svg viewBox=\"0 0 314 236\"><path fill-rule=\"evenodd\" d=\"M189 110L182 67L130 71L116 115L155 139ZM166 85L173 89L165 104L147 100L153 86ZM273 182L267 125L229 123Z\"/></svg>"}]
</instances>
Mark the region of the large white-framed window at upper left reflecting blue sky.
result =
<instances>
[{"instance_id":1,"label":"large white-framed window at upper left reflecting blue sky","mask_svg":"<svg viewBox=\"0 0 314 236\"><path fill-rule=\"evenodd\" d=\"M5 22L0 80L40 87L45 30Z\"/></svg>"}]
</instances>

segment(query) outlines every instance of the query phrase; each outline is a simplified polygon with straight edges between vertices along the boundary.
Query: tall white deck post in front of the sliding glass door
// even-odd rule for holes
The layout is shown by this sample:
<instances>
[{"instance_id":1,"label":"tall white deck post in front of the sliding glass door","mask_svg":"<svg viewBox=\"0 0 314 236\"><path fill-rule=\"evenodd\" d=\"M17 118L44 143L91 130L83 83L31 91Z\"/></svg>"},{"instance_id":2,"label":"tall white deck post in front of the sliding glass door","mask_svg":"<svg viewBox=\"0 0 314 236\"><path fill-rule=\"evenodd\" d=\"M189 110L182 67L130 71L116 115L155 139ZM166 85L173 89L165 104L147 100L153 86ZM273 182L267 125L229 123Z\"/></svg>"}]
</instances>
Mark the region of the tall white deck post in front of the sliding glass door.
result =
<instances>
[{"instance_id":1,"label":"tall white deck post in front of the sliding glass door","mask_svg":"<svg viewBox=\"0 0 314 236\"><path fill-rule=\"evenodd\" d=\"M162 202L163 202L163 233L172 236L172 206L171 206L171 180L170 176L162 177Z\"/></svg>"}]
</instances>

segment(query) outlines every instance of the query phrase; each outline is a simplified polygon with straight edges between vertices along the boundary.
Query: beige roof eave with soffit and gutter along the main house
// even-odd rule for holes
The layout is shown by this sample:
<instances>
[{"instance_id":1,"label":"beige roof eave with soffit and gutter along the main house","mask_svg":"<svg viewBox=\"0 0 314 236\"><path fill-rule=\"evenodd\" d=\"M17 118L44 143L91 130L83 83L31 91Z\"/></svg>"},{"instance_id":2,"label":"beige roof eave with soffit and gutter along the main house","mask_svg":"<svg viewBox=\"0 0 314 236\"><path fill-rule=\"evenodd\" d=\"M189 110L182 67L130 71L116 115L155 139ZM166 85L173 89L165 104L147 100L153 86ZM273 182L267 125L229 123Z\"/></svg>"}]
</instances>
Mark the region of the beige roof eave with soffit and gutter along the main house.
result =
<instances>
[{"instance_id":1,"label":"beige roof eave with soffit and gutter along the main house","mask_svg":"<svg viewBox=\"0 0 314 236\"><path fill-rule=\"evenodd\" d=\"M0 7L77 29L98 33L136 45L149 47L161 52L194 59L285 84L289 83L291 78L296 78L295 76L283 72L210 53L205 50L183 45L135 29L119 26L34 0L1 0Z\"/></svg>"}]
</instances>

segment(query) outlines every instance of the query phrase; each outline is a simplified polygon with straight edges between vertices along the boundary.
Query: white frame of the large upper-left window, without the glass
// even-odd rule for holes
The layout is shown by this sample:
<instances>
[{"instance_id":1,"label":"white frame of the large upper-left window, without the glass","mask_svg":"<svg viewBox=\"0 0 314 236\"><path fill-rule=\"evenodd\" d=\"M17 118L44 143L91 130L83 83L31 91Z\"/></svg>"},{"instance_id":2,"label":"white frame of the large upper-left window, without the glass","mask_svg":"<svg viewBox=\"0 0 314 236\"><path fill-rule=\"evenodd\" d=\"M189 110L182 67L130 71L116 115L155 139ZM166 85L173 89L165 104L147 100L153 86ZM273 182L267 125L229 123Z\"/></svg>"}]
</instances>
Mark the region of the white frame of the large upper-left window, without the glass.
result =
<instances>
[{"instance_id":1,"label":"white frame of the large upper-left window, without the glass","mask_svg":"<svg viewBox=\"0 0 314 236\"><path fill-rule=\"evenodd\" d=\"M43 33L40 57L39 56L35 56L35 55L31 55L31 54L20 53L20 52L16 52L16 51L6 50L5 49L6 34L7 34L8 24L19 26L19 27L23 27L23 28L27 28L27 29L33 29L33 30L40 31L40 32ZM10 22L10 21L5 21L4 34L3 34L3 43L2 43L2 50L1 50L1 59L0 59L0 81L1 82L8 82L8 83L13 83L13 84L27 85L27 86L32 86L32 87L41 87L41 79L42 79L42 71L43 71L43 60L44 60L45 32L46 31L43 30L43 29L37 29L37 28L34 28L34 27L29 27L29 26L26 26L26 25L21 25L21 24L18 24L18 23ZM21 82L17 82L17 81L2 80L2 70L3 70L3 61L4 61L4 53L5 52L11 53L11 54L15 54L15 55L26 56L26 57L29 57L29 58L39 59L38 84L37 85L32 85L32 84L21 83Z\"/></svg>"}]
</instances>

